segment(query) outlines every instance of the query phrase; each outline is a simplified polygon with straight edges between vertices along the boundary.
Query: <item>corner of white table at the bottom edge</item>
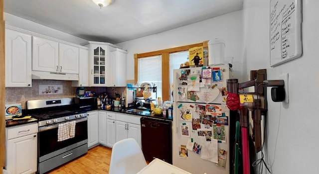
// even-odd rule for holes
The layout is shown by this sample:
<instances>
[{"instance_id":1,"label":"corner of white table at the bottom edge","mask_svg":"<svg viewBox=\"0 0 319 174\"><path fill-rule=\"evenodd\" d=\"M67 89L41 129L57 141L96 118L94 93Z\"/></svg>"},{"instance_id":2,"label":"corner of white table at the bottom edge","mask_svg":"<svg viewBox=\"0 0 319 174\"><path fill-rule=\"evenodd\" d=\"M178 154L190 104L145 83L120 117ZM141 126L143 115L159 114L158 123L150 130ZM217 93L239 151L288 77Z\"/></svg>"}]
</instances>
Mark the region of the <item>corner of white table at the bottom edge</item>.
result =
<instances>
[{"instance_id":1,"label":"corner of white table at the bottom edge","mask_svg":"<svg viewBox=\"0 0 319 174\"><path fill-rule=\"evenodd\" d=\"M160 159L153 160L137 174L191 174Z\"/></svg>"}]
</instances>

